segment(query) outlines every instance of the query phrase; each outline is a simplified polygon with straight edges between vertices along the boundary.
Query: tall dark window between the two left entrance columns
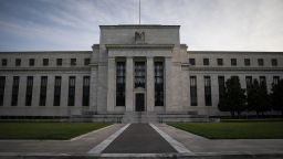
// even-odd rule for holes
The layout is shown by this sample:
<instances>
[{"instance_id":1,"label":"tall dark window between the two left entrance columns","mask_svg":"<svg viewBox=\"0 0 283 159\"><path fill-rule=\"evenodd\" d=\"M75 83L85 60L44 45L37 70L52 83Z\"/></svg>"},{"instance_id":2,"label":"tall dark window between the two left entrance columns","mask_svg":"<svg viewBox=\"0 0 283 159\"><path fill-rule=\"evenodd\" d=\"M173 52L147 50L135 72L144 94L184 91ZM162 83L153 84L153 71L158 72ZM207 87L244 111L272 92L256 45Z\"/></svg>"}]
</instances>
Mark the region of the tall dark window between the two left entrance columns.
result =
<instances>
[{"instance_id":1,"label":"tall dark window between the two left entrance columns","mask_svg":"<svg viewBox=\"0 0 283 159\"><path fill-rule=\"evenodd\" d=\"M125 106L126 63L116 63L116 106Z\"/></svg>"}]
</instances>

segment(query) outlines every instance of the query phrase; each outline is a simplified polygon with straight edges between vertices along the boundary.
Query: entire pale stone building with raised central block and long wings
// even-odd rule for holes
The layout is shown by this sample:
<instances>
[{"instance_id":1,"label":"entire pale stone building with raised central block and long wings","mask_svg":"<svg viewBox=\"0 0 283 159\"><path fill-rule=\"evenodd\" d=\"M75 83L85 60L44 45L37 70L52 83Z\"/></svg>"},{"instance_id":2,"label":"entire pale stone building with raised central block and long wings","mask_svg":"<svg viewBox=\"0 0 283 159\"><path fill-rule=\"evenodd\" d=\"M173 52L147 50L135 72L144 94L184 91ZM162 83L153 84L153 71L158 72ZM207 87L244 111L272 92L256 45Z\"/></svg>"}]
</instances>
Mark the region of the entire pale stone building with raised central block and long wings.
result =
<instances>
[{"instance_id":1,"label":"entire pale stone building with raised central block and long wings","mask_svg":"<svg viewBox=\"0 0 283 159\"><path fill-rule=\"evenodd\" d=\"M101 25L92 51L1 52L0 116L220 115L221 84L283 77L282 52L190 51L179 25Z\"/></svg>"}]
</instances>

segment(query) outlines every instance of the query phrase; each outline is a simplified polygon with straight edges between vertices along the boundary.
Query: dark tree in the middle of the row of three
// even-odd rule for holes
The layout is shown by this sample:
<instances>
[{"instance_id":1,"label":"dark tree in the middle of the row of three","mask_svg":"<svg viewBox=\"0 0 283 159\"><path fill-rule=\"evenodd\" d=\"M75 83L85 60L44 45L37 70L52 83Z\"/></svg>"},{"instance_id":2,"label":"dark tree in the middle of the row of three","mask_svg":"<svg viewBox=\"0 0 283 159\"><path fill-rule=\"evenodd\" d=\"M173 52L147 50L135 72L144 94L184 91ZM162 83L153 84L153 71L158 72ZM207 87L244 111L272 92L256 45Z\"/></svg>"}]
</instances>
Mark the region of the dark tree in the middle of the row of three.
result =
<instances>
[{"instance_id":1,"label":"dark tree in the middle of the row of three","mask_svg":"<svg viewBox=\"0 0 283 159\"><path fill-rule=\"evenodd\" d=\"M248 87L248 109L256 112L256 116L264 115L264 112L271 109L270 96L264 82L259 84L258 80L254 80Z\"/></svg>"}]
</instances>

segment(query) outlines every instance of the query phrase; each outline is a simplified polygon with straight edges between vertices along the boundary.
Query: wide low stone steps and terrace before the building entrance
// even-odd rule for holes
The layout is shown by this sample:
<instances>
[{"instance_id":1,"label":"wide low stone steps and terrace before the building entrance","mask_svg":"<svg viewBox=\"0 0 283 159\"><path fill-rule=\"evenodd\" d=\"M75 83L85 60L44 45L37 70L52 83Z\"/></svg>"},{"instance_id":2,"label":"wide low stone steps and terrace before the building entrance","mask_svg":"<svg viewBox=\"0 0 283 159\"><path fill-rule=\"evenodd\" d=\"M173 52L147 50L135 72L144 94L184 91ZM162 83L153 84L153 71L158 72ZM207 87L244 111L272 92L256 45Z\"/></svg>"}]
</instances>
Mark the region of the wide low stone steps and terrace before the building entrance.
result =
<instances>
[{"instance_id":1,"label":"wide low stone steps and terrace before the building entrance","mask_svg":"<svg viewBox=\"0 0 283 159\"><path fill-rule=\"evenodd\" d=\"M82 123L216 123L218 118L209 118L198 115L197 112L185 113L154 113L154 112L126 112L126 113L94 113L86 112L82 115L73 115L70 121Z\"/></svg>"}]
</instances>

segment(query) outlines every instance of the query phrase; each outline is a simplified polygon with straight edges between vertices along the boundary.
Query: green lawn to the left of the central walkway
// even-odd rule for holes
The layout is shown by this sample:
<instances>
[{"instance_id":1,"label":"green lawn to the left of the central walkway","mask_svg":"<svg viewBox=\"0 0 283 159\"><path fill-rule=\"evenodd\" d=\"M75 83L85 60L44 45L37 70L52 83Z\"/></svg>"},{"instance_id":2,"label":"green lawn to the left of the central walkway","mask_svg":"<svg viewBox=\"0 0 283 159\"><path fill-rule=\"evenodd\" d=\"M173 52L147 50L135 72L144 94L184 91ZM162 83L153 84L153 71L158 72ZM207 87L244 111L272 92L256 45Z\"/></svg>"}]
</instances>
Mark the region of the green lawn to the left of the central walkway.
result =
<instances>
[{"instance_id":1,"label":"green lawn to the left of the central walkway","mask_svg":"<svg viewBox=\"0 0 283 159\"><path fill-rule=\"evenodd\" d=\"M0 123L0 139L71 139L109 124Z\"/></svg>"}]
</instances>

